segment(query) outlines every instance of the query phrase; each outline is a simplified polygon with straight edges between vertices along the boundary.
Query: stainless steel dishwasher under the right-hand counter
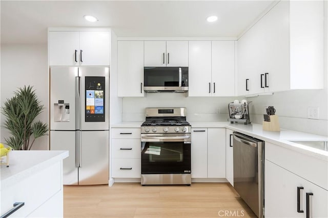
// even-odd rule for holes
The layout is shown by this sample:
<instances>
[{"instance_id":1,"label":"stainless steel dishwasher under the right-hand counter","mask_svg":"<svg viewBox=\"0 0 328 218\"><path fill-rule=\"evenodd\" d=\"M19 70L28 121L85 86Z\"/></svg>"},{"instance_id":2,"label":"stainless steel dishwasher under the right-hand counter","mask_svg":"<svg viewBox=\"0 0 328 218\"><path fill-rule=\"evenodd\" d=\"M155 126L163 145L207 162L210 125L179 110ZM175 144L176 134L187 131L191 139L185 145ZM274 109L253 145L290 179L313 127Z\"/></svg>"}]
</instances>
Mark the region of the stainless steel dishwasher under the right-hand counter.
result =
<instances>
[{"instance_id":1,"label":"stainless steel dishwasher under the right-hand counter","mask_svg":"<svg viewBox=\"0 0 328 218\"><path fill-rule=\"evenodd\" d=\"M257 217L264 214L264 141L233 133L234 188Z\"/></svg>"}]
</instances>

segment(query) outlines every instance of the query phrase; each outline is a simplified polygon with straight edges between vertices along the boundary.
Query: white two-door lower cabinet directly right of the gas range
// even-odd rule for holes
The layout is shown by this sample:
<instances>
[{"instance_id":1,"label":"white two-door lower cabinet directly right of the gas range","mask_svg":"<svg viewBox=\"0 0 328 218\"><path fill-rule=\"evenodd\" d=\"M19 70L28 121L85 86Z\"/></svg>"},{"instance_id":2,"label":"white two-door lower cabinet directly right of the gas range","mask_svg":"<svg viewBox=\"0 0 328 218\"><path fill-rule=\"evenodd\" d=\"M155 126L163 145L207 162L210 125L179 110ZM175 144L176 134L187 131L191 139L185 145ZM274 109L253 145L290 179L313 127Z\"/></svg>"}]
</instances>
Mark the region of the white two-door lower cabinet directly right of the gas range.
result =
<instances>
[{"instance_id":1,"label":"white two-door lower cabinet directly right of the gas range","mask_svg":"<svg viewBox=\"0 0 328 218\"><path fill-rule=\"evenodd\" d=\"M226 129L192 128L191 177L226 178Z\"/></svg>"}]
</instances>

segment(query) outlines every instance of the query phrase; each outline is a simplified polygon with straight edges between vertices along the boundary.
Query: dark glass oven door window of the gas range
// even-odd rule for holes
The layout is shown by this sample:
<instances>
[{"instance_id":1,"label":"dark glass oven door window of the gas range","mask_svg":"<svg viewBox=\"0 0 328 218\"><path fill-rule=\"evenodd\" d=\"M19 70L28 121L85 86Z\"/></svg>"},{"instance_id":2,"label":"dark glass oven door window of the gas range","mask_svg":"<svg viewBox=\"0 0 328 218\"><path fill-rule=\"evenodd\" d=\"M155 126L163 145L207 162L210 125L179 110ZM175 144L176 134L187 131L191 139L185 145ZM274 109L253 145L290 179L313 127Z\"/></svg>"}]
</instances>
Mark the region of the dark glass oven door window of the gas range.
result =
<instances>
[{"instance_id":1,"label":"dark glass oven door window of the gas range","mask_svg":"<svg viewBox=\"0 0 328 218\"><path fill-rule=\"evenodd\" d=\"M183 142L142 142L141 173L190 173L190 144Z\"/></svg>"}]
</instances>

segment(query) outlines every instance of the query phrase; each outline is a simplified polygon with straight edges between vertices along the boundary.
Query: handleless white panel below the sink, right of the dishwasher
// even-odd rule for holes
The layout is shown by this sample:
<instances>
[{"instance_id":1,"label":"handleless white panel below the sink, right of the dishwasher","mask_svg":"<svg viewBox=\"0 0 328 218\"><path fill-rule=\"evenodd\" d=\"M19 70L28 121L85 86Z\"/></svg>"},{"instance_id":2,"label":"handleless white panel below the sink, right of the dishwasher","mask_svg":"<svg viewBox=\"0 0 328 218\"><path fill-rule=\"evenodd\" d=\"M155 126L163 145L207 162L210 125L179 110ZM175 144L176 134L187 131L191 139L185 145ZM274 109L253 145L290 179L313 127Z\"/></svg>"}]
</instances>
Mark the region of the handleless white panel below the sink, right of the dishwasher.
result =
<instances>
[{"instance_id":1,"label":"handleless white panel below the sink, right of the dishwasher","mask_svg":"<svg viewBox=\"0 0 328 218\"><path fill-rule=\"evenodd\" d=\"M264 151L265 159L328 190L328 164L326 161L270 142L265 142Z\"/></svg>"}]
</instances>

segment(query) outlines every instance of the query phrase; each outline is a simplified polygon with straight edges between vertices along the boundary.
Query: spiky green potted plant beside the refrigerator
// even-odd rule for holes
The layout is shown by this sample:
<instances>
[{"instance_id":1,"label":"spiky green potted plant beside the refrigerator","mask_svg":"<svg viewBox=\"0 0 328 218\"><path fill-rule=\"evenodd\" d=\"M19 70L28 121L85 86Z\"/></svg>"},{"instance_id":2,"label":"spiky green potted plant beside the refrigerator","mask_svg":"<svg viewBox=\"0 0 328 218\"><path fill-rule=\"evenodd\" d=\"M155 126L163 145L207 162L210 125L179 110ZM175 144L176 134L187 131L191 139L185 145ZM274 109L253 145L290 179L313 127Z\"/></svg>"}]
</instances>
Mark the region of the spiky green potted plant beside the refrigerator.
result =
<instances>
[{"instance_id":1,"label":"spiky green potted plant beside the refrigerator","mask_svg":"<svg viewBox=\"0 0 328 218\"><path fill-rule=\"evenodd\" d=\"M11 136L5 138L6 144L13 150L30 150L38 137L48 135L48 125L34 119L43 110L40 105L33 86L24 86L14 91L14 96L6 99L1 113L5 115L6 120L4 128L9 130ZM33 135L33 140L30 138Z\"/></svg>"}]
</instances>

